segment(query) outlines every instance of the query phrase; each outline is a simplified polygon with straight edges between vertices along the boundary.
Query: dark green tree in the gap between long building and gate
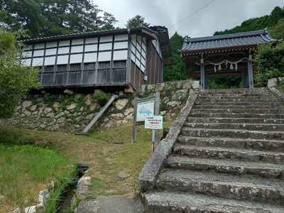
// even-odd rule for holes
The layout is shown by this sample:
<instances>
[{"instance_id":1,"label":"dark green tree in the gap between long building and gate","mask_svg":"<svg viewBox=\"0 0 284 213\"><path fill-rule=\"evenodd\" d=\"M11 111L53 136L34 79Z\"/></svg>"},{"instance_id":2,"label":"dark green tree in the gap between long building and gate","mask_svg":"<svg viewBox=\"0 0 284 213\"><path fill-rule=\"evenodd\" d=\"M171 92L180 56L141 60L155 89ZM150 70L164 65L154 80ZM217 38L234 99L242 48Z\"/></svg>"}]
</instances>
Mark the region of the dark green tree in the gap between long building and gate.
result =
<instances>
[{"instance_id":1,"label":"dark green tree in the gap between long building and gate","mask_svg":"<svg viewBox=\"0 0 284 213\"><path fill-rule=\"evenodd\" d=\"M186 67L185 59L181 58L178 54L178 50L182 48L183 44L182 36L178 35L177 32L170 38L170 47L172 49L173 55L173 65L168 65L165 67L165 81L175 81L175 80L186 80Z\"/></svg>"}]
</instances>

